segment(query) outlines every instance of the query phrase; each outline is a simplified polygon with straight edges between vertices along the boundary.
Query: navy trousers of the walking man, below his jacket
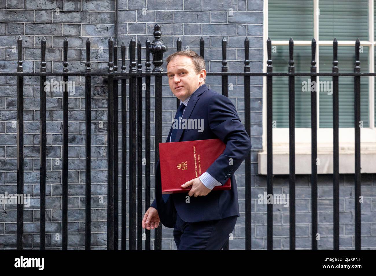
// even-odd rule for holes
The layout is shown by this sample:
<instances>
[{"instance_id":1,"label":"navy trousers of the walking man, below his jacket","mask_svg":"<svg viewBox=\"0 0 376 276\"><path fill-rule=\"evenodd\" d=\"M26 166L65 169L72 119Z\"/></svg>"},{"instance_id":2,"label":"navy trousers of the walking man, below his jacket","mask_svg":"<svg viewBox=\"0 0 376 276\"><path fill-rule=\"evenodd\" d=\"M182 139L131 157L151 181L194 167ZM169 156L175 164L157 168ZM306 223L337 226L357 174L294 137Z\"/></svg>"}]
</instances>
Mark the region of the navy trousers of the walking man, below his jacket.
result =
<instances>
[{"instance_id":1,"label":"navy trousers of the walking man, below his jacket","mask_svg":"<svg viewBox=\"0 0 376 276\"><path fill-rule=\"evenodd\" d=\"M237 218L185 222L176 212L173 233L177 250L221 250L235 228Z\"/></svg>"}]
</instances>

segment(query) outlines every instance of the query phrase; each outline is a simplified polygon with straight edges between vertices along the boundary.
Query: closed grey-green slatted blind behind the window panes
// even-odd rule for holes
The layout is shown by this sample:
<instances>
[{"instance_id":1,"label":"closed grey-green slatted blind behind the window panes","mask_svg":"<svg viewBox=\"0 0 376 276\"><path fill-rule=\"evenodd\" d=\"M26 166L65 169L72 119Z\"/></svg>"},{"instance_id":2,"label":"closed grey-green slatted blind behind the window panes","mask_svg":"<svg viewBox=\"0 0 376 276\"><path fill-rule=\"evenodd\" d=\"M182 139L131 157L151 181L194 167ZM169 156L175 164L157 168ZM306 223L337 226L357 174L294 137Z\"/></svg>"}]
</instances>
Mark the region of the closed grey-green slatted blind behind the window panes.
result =
<instances>
[{"instance_id":1,"label":"closed grey-green slatted blind behind the window panes","mask_svg":"<svg viewBox=\"0 0 376 276\"><path fill-rule=\"evenodd\" d=\"M268 36L275 40L311 41L313 38L313 0L268 1ZM375 23L376 26L376 23ZM320 40L354 41L368 40L368 0L320 0L319 1ZM273 49L272 49L273 50ZM288 71L288 46L274 47L272 52L273 71ZM338 46L338 66L340 72L353 72L355 62L354 47ZM320 72L332 71L332 46L319 47ZM296 72L309 72L311 47L294 47ZM368 72L368 47L360 54L361 72ZM320 81L332 81L331 77L320 77ZM310 127L311 101L309 92L302 91L302 82L308 77L295 77L296 127ZM331 85L332 83L330 83ZM329 92L330 93L330 92ZM376 93L375 93L376 94ZM332 127L332 95L328 91L319 93L320 127ZM376 99L375 99L376 103ZM354 78L339 78L340 127L353 127ZM273 77L273 120L276 127L288 127L288 77ZM368 78L361 78L361 120L369 127L368 120ZM375 115L376 121L376 115Z\"/></svg>"}]
</instances>

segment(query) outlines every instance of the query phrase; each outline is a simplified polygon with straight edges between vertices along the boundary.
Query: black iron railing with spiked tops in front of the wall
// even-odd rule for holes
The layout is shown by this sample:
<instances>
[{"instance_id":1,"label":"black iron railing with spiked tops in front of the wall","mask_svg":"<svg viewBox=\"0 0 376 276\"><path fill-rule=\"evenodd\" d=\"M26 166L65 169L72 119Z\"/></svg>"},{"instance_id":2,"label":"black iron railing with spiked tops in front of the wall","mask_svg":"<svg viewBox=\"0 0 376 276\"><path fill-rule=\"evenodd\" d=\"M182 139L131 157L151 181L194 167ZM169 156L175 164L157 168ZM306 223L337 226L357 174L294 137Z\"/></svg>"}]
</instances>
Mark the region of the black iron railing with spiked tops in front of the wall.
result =
<instances>
[{"instance_id":1,"label":"black iron railing with spiked tops in front of the wall","mask_svg":"<svg viewBox=\"0 0 376 276\"><path fill-rule=\"evenodd\" d=\"M244 41L244 72L227 72L226 47L227 41L222 40L222 69L221 72L209 72L207 75L218 75L222 78L222 94L228 96L228 76L244 76L244 98L245 98L245 128L249 136L250 133L250 77L251 76L266 76L266 110L267 110L267 194L273 194L273 137L272 137L272 115L273 115L273 76L287 76L289 79L288 95L289 95L289 131L290 131L290 249L295 249L295 76L310 76L313 81L316 81L317 76L332 76L334 83L333 91L333 133L334 133L334 174L333 174L333 196L334 196L334 249L339 249L339 163L338 163L338 78L340 76L353 76L355 79L354 95L354 127L355 127L355 199L360 196L361 189L361 174L360 174L360 128L358 122L360 121L360 77L361 76L375 76L375 73L361 73L359 62L359 40L355 42L355 67L354 73L339 73L337 61L337 40L333 42L333 70L332 73L317 73L316 72L316 41L312 39L312 61L311 72L295 73L293 60L293 39L289 41L289 67L286 73L273 73L272 58L271 58L271 39L267 40L267 72L250 72L249 60L249 40ZM177 39L177 51L182 50L182 41ZM118 81L121 81L121 121L123 122L121 128L121 249L126 247L126 150L127 150L127 132L126 122L129 120L129 250L142 250L143 229L141 227L143 206L142 201L145 200L145 210L150 207L150 86L151 77L154 76L155 85L155 162L158 161L159 151L158 144L162 142L162 77L165 76L163 72L163 54L167 51L167 46L161 39L161 29L159 24L155 25L154 40L150 43L146 40L146 62L145 71L142 70L141 64L141 42L137 43L137 63L136 63L136 41L131 39L129 44L129 72L126 72L126 47L124 43L121 45L121 72L117 72L117 53L118 47L114 45L112 38L109 39L109 62L108 72L93 73L91 72L90 63L90 40L86 41L86 72L68 72L68 40L64 39L63 50L63 72L62 73L47 73L45 62L46 41L43 38L41 41L41 69L39 73L23 72L22 68L22 39L18 38L18 66L17 73L14 72L0 72L0 75L17 76L17 193L23 194L24 178L24 154L23 154L23 77L24 76L39 76L40 77L40 103L41 103L41 144L40 144L40 249L45 249L45 158L46 158L46 93L44 90L45 80L47 76L62 76L63 81L68 81L71 76L85 76L85 124L86 124L86 158L85 158L85 196L86 196L86 214L85 214L85 249L90 250L91 241L91 175L90 175L90 145L91 145L91 77L104 76L107 77L108 85L108 208L107 208L107 247L108 250L118 249ZM204 40L200 40L200 56L204 57ZM150 53L153 55L153 71L150 68ZM146 118L145 118L145 158L146 158L146 182L145 182L145 198L142 195L142 100L143 100L143 81L145 78L145 104L146 104ZM126 95L127 84L126 79L129 79L129 119L126 114ZM313 85L313 84L311 84ZM314 89L311 89L313 91ZM179 99L176 101L176 107L179 107ZM68 247L68 91L63 92L63 147L62 147L62 249L67 250ZM311 128L312 128L312 250L317 250L317 240L315 233L317 233L317 98L316 93L311 93ZM251 161L250 154L245 160L245 194L246 194L246 244L245 249L251 249ZM137 189L136 189L137 179ZM137 195L136 195L137 192ZM136 201L137 198L137 201ZM137 205L136 205L137 202ZM136 211L138 216L136 217ZM136 233L137 229L137 233ZM355 200L355 249L361 249L361 209L360 202ZM23 249L23 205L17 205L17 249ZM161 250L162 228L155 229L155 250ZM150 231L146 231L145 249L150 250ZM229 245L224 247L228 250ZM267 206L267 249L273 249L273 205Z\"/></svg>"}]
</instances>

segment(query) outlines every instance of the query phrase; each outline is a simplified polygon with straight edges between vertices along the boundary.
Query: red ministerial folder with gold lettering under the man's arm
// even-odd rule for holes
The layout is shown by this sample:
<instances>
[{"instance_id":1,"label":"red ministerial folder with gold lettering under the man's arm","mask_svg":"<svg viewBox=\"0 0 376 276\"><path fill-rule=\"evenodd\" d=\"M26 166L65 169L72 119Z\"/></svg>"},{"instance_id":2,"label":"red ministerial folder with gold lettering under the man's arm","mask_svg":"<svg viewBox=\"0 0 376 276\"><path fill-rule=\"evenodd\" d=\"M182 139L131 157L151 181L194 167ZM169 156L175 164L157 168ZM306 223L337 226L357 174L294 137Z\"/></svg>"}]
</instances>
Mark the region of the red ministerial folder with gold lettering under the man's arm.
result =
<instances>
[{"instance_id":1,"label":"red ministerial folder with gold lettering under the man's arm","mask_svg":"<svg viewBox=\"0 0 376 276\"><path fill-rule=\"evenodd\" d=\"M192 186L181 186L202 175L223 153L226 145L220 139L159 143L162 194L188 193ZM215 190L230 190L231 181Z\"/></svg>"}]
</instances>

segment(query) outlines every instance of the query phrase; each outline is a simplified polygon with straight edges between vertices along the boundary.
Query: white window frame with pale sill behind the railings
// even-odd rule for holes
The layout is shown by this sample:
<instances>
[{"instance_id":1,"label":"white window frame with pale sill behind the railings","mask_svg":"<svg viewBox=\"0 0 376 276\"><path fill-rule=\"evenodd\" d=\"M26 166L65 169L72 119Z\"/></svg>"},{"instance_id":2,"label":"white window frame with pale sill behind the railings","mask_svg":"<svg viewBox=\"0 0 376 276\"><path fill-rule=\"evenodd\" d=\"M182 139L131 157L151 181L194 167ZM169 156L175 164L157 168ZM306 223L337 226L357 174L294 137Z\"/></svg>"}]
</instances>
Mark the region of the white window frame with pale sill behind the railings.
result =
<instances>
[{"instance_id":1,"label":"white window frame with pale sill behind the railings","mask_svg":"<svg viewBox=\"0 0 376 276\"><path fill-rule=\"evenodd\" d=\"M332 46L333 41L320 41L318 36L319 26L319 0L314 2L314 38L316 40L316 62L317 72L320 72L319 47ZM264 29L263 29L263 72L267 67L268 38L268 0L264 0ZM293 34L291 34L293 37ZM374 0L368 0L368 37L370 41L361 41L364 47L369 47L368 72L374 73ZM293 37L294 38L294 37ZM272 45L288 45L288 39L283 41L272 41ZM310 46L311 41L294 41L294 46ZM355 41L338 41L338 46L354 46ZM273 59L273 56L272 56ZM341 68L340 68L341 70ZM317 77L317 81L319 77ZM368 77L368 116L369 127L361 128L361 172L376 172L376 128L374 123L374 77ZM266 77L263 77L262 89L262 151L258 153L258 173L267 173L267 139L266 139ZM320 128L319 124L319 92L317 92L317 158L319 166L318 173L333 173L333 128ZM289 173L289 129L273 128L273 174ZM340 173L354 173L355 164L355 130L354 128L339 128L339 165ZM311 173L311 128L295 128L295 151L296 151L296 173ZM321 165L321 166L320 166Z\"/></svg>"}]
</instances>

